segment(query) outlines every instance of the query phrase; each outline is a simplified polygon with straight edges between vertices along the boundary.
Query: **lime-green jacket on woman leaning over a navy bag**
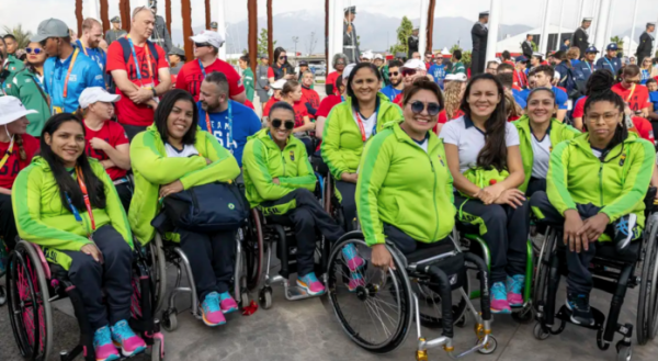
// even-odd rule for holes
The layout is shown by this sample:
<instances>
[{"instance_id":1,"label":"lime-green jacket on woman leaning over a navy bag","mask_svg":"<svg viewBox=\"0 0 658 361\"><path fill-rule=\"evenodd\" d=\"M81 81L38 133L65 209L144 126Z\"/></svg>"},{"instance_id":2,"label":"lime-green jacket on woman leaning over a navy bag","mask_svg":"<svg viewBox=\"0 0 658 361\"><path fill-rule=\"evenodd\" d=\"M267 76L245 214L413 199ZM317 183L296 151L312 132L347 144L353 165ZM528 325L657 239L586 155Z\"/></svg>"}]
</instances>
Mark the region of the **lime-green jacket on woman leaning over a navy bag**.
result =
<instances>
[{"instance_id":1,"label":"lime-green jacket on woman leaning over a navy bag","mask_svg":"<svg viewBox=\"0 0 658 361\"><path fill-rule=\"evenodd\" d=\"M135 238L143 245L155 235L151 219L160 212L160 185L180 180L185 190L212 182L229 182L240 174L238 161L208 132L196 129L194 147L201 157L170 158L156 125L149 126L131 143L131 166L135 174L135 193L128 219ZM206 163L206 158L213 162ZM178 241L175 235L167 239Z\"/></svg>"}]
</instances>

